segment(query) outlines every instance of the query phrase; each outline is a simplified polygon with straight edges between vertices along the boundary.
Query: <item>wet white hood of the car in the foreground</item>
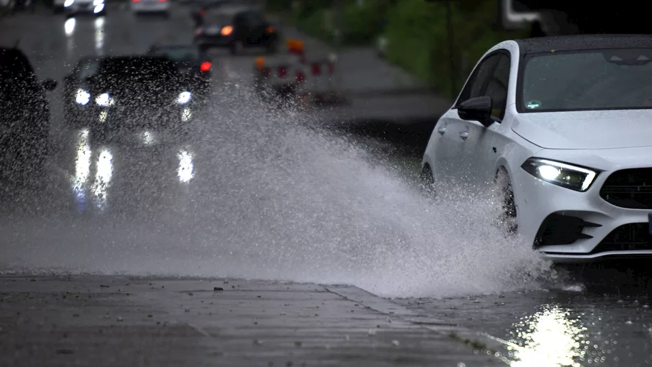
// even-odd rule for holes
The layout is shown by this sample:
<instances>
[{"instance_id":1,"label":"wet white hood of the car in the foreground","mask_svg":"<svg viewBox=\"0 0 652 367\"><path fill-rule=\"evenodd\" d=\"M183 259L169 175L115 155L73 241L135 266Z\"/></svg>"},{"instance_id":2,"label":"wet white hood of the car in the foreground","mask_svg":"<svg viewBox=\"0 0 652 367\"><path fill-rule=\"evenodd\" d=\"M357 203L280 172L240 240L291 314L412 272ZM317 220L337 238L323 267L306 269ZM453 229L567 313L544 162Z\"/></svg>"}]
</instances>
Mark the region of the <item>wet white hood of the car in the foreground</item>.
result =
<instances>
[{"instance_id":1,"label":"wet white hood of the car in the foreground","mask_svg":"<svg viewBox=\"0 0 652 367\"><path fill-rule=\"evenodd\" d=\"M512 130L546 149L652 146L652 110L532 112L516 116Z\"/></svg>"}]
</instances>

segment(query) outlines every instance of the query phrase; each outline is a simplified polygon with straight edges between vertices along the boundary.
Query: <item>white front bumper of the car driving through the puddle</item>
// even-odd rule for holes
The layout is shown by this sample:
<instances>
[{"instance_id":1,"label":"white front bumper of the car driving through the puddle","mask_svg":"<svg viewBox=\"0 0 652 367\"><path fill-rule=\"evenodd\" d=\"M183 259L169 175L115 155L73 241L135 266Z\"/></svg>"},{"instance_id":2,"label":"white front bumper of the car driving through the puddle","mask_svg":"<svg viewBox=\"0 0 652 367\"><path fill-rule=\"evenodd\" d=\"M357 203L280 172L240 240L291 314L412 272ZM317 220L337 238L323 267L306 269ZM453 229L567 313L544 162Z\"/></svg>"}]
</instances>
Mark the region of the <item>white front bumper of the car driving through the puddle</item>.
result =
<instances>
[{"instance_id":1,"label":"white front bumper of the car driving through the puddle","mask_svg":"<svg viewBox=\"0 0 652 367\"><path fill-rule=\"evenodd\" d=\"M582 193L544 182L520 167L515 168L511 175L519 232L527 243L534 244L554 263L652 257L648 217L652 206L623 208L600 195L610 174L628 168L652 167L648 158L652 155L652 147L579 152L544 150L539 153L541 155L571 164L581 162L577 164L602 172ZM649 181L652 196L652 177Z\"/></svg>"}]
</instances>

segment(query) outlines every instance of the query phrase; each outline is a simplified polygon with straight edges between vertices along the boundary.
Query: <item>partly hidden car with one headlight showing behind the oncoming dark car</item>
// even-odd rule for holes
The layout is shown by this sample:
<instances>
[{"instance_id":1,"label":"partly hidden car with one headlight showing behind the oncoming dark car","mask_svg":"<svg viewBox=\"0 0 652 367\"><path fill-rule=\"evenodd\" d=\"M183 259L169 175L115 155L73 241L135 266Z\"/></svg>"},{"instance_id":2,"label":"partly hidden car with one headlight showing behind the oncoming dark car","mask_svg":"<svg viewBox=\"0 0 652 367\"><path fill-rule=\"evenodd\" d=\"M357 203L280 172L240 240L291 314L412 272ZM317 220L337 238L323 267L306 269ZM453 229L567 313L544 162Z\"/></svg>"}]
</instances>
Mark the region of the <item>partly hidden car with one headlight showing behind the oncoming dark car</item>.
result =
<instances>
[{"instance_id":1,"label":"partly hidden car with one headlight showing behind the oncoming dark car","mask_svg":"<svg viewBox=\"0 0 652 367\"><path fill-rule=\"evenodd\" d=\"M72 72L63 78L63 119L68 127L80 127L87 124L87 120L97 118L85 112L91 110L88 78L95 76L102 59L99 56L82 57Z\"/></svg>"}]
</instances>

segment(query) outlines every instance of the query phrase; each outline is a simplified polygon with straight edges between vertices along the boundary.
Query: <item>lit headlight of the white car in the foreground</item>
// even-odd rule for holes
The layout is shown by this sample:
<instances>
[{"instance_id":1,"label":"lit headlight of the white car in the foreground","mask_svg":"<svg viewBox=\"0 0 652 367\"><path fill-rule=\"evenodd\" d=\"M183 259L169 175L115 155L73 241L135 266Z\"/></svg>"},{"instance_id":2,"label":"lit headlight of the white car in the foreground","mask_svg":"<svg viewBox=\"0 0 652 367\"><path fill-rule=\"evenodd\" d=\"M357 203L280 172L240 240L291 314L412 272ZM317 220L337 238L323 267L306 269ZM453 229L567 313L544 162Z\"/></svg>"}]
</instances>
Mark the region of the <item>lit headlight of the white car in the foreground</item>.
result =
<instances>
[{"instance_id":1,"label":"lit headlight of the white car in the foreground","mask_svg":"<svg viewBox=\"0 0 652 367\"><path fill-rule=\"evenodd\" d=\"M597 170L542 158L527 159L521 168L545 182L575 191L587 191L599 173Z\"/></svg>"}]
</instances>

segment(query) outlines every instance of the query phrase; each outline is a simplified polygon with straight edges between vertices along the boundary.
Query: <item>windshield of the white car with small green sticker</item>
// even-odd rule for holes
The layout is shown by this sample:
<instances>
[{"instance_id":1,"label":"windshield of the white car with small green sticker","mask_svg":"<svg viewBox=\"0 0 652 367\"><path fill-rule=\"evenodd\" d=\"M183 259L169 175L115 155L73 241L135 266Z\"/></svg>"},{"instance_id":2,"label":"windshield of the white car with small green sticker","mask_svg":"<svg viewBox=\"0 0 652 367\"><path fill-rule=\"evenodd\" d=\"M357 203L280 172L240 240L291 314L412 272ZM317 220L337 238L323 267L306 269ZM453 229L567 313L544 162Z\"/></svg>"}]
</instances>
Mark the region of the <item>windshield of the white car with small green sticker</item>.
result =
<instances>
[{"instance_id":1,"label":"windshield of the white car with small green sticker","mask_svg":"<svg viewBox=\"0 0 652 367\"><path fill-rule=\"evenodd\" d=\"M521 112L652 108L652 49L526 56Z\"/></svg>"}]
</instances>

